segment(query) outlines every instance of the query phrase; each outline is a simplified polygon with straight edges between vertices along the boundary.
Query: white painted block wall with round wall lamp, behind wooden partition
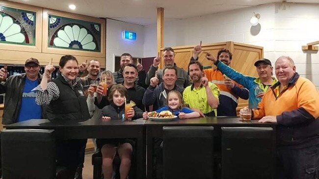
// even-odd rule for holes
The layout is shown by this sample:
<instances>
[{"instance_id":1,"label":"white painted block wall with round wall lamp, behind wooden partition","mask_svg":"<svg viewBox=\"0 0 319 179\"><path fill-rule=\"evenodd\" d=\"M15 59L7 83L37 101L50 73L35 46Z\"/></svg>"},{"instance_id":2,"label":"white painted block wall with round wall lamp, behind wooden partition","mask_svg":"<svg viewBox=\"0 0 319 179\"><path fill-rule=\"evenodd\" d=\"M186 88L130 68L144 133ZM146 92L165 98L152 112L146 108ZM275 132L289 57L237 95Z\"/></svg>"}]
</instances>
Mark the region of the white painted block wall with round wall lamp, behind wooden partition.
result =
<instances>
[{"instance_id":1,"label":"white painted block wall with round wall lamp, behind wooden partition","mask_svg":"<svg viewBox=\"0 0 319 179\"><path fill-rule=\"evenodd\" d=\"M261 15L251 26L252 13ZM319 4L264 4L178 21L164 22L164 46L197 45L234 41L264 47L264 57L273 63L291 56L297 72L319 87L319 54L307 54L302 45L319 41ZM144 57L156 56L156 24L144 28Z\"/></svg>"}]
</instances>

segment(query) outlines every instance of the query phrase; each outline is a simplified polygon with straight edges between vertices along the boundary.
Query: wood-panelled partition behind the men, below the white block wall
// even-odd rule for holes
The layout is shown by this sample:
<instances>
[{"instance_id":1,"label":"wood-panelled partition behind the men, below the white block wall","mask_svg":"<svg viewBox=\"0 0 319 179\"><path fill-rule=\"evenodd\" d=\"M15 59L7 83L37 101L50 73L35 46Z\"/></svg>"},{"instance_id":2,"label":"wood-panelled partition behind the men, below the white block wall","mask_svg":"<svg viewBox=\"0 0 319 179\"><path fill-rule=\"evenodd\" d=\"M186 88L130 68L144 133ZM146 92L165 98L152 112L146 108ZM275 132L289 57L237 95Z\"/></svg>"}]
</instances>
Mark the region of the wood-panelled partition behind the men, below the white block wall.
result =
<instances>
[{"instance_id":1,"label":"wood-panelled partition behind the men, below the white block wall","mask_svg":"<svg viewBox=\"0 0 319 179\"><path fill-rule=\"evenodd\" d=\"M188 70L188 63L193 53L194 46L173 46L172 47L175 51L175 63L178 67L181 67ZM233 54L233 60L231 63L231 67L235 70L239 71L240 73L248 76L258 76L256 67L254 66L255 61L258 59L263 58L264 56L264 49L261 46L255 45L247 45L247 44L240 44L235 42L221 42L221 43L214 43L214 44L204 44L202 45L203 52L209 52L217 56L217 52L219 49L226 48ZM162 53L161 49L161 53ZM203 66L212 66L212 61L208 61L205 57L205 53L200 53L198 60L202 63ZM163 67L163 63L161 63L161 67ZM248 100L239 99L239 105L237 111L239 111L242 107L248 106Z\"/></svg>"}]
</instances>

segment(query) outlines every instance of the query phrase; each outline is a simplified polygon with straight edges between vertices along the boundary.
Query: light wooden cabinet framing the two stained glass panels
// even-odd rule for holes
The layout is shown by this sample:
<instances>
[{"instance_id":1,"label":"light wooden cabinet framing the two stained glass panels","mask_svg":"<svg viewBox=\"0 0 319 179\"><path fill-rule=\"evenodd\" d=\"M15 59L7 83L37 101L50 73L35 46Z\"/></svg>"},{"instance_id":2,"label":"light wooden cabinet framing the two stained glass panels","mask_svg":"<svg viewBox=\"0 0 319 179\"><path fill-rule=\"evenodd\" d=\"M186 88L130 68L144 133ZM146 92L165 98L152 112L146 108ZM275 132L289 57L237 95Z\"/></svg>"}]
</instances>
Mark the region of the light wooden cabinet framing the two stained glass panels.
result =
<instances>
[{"instance_id":1,"label":"light wooden cabinet framing the two stained glass panels","mask_svg":"<svg viewBox=\"0 0 319 179\"><path fill-rule=\"evenodd\" d=\"M3 8L1 8L3 7ZM12 10L13 9L13 10ZM17 10L15 12L14 10ZM5 12L7 10L7 12ZM31 6L27 4L22 3L16 3L16 2L10 2L10 1L4 1L0 0L0 18L3 19L4 17L6 19L10 19L9 21L6 21L7 23L13 23L15 26L17 26L18 33L21 34L21 38L24 38L22 34L25 35L25 38L27 39L27 30L35 30L33 34L29 35L28 40L25 42L10 42L9 41L9 35L5 37L1 33L1 41L0 41L0 64L9 64L9 65L24 65L26 59L33 57L39 60L40 65L45 66L48 65L48 63L53 59L54 66L58 66L58 63L60 61L61 56L63 55L74 55L79 63L85 62L86 60L92 60L96 59L100 61L101 68L106 67L106 21L104 19L100 18L93 18L68 12L62 12L62 11L55 11L51 9L45 9L42 7L36 7ZM2 12L3 11L3 12ZM20 12L21 11L21 12ZM11 14L10 14L11 13ZM21 15L21 13L27 13L27 17ZM33 16L32 16L33 15ZM50 22L49 18L50 15L54 15L55 17L60 17L62 20L59 24L59 26L54 26L54 28L51 28L50 25L53 22ZM30 18L30 17L33 17ZM30 19L28 19L30 18ZM65 18L63 22L63 18ZM89 33L90 30L92 30L92 33L99 33L99 39L92 38L90 36L90 40L94 41L94 43L99 44L99 50L86 50L84 47L86 44L89 43L90 40L86 40L85 44L83 42L83 45L78 44L77 41L73 40L73 42L76 43L75 46L79 48L75 48L72 45L62 48L57 48L54 46L50 46L49 44L51 41L53 42L53 38L49 38L49 34L53 34L52 37L58 37L58 32L63 31L66 26L72 27L72 25L69 22L66 22L66 19L71 21L71 24L80 24L82 22L87 22L90 24L87 24L86 27L80 26L80 30L83 32ZM13 21L11 21L13 20ZM26 21L29 23L32 23L32 25L29 25L27 27L24 27L26 24ZM53 21L53 20L52 20ZM68 23L68 24L66 24ZM0 23L0 26L3 26L3 23ZM96 28L94 28L94 25ZM10 25L7 25L8 29ZM19 27L20 26L20 27ZM4 27L3 27L4 28ZM21 28L21 30L19 30ZM1 29L1 28L0 28ZM10 30L10 29L9 29ZM95 30L95 31L94 31ZM7 32L8 30L6 30ZM49 33L50 32L50 33ZM90 31L91 32L91 31ZM30 38L32 36L32 38ZM73 34L73 36L75 36ZM80 37L80 35L79 35ZM6 41L3 41L2 39L5 39ZM83 39L85 39L83 37ZM82 40L83 40L82 39ZM32 43L29 43L28 41L32 41ZM80 41L80 40L79 40ZM71 42L71 41L70 41ZM71 43L70 43L71 44ZM50 47L49 47L50 46Z\"/></svg>"}]
</instances>

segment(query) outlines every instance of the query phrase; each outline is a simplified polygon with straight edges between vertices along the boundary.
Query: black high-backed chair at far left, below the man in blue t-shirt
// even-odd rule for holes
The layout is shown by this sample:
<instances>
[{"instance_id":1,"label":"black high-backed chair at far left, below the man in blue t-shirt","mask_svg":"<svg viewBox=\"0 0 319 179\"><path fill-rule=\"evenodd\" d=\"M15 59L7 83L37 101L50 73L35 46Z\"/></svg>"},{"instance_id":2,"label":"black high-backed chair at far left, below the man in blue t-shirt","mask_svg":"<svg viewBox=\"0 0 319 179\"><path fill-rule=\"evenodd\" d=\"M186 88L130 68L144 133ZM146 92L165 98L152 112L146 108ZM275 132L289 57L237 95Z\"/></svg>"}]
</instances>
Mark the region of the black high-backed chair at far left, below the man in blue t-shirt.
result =
<instances>
[{"instance_id":1,"label":"black high-backed chair at far left, below the man in blue t-shirt","mask_svg":"<svg viewBox=\"0 0 319 179\"><path fill-rule=\"evenodd\" d=\"M54 130L3 130L1 153L3 179L67 179L56 167Z\"/></svg>"}]
</instances>

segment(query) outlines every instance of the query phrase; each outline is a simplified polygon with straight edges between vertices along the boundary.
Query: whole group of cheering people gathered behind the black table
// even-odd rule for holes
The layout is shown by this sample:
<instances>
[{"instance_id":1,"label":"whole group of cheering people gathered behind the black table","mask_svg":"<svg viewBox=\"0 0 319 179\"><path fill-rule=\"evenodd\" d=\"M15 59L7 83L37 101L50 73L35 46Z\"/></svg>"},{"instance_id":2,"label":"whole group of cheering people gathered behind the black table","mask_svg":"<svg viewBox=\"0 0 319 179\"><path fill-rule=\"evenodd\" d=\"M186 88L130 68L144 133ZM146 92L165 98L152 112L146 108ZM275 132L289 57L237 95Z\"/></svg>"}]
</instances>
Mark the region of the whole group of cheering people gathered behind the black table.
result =
<instances>
[{"instance_id":1,"label":"whole group of cheering people gathered behind the black table","mask_svg":"<svg viewBox=\"0 0 319 179\"><path fill-rule=\"evenodd\" d=\"M43 75L39 74L37 59L26 60L26 73L7 78L0 69L0 93L5 93L2 124L12 124L28 119L49 120L125 120L129 117L148 118L153 111L171 111L180 119L205 116L236 116L239 97L249 99L252 118L259 122L278 123L277 171L280 179L315 179L319 177L319 94L309 80L300 77L292 59L282 56L275 62L275 75L268 59L255 62L258 77L245 76L230 67L232 53L218 51L216 58L206 53L216 69L204 69L198 62L202 53L196 45L188 71L174 63L171 47L163 49L162 57L154 58L146 73L140 63L124 53L120 57L120 70L100 73L100 63L91 60L79 64L71 55L59 62L60 75L51 80L55 67L50 63ZM158 69L163 58L164 68ZM87 76L80 74L87 70ZM277 80L278 79L278 80ZM107 83L96 90L91 81ZM125 103L136 106L125 116ZM247 110L247 109L244 109ZM242 110L239 112L239 114ZM161 139L155 141L155 157L161 158ZM70 178L81 179L86 140L57 141L57 164L67 166ZM131 168L134 141L131 139L97 139L103 157L103 174L111 179L113 159L121 158L120 177L127 179ZM158 165L158 170L161 166ZM160 172L159 172L160 173ZM159 174L156 176L161 178Z\"/></svg>"}]
</instances>

